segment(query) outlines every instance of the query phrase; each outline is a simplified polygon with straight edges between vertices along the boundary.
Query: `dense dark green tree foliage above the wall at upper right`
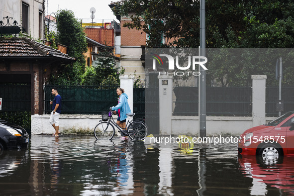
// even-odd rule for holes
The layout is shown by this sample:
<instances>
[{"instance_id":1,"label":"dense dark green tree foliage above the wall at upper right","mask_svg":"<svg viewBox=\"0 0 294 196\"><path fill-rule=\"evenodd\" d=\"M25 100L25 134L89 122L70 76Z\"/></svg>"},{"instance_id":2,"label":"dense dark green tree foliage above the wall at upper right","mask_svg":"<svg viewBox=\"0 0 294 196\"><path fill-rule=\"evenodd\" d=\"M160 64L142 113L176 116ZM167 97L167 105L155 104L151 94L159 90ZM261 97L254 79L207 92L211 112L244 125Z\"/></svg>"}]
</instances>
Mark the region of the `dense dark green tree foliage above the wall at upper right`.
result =
<instances>
[{"instance_id":1,"label":"dense dark green tree foliage above the wall at upper right","mask_svg":"<svg viewBox=\"0 0 294 196\"><path fill-rule=\"evenodd\" d=\"M291 0L206 0L206 48L294 48L293 9ZM112 10L131 18L125 27L148 34L147 47L199 46L199 1L124 0ZM161 43L162 36L167 40L165 44ZM294 74L290 54L283 59L285 85L294 83L294 78L287 77ZM250 52L247 55L254 56ZM208 67L207 78L222 86L250 86L251 75L263 74L268 75L268 85L277 85L275 62L265 56L259 58L254 65L215 64Z\"/></svg>"}]
</instances>

